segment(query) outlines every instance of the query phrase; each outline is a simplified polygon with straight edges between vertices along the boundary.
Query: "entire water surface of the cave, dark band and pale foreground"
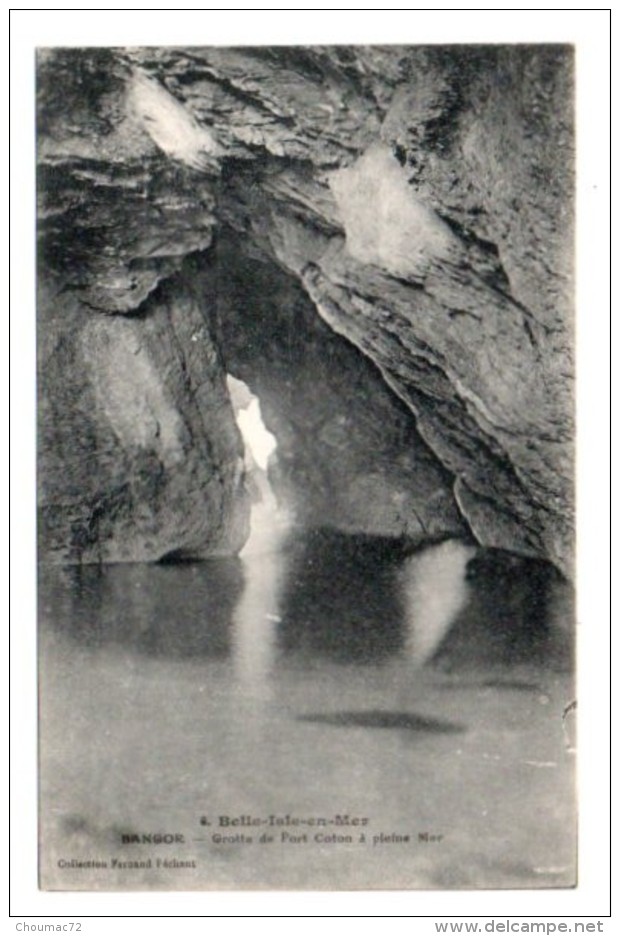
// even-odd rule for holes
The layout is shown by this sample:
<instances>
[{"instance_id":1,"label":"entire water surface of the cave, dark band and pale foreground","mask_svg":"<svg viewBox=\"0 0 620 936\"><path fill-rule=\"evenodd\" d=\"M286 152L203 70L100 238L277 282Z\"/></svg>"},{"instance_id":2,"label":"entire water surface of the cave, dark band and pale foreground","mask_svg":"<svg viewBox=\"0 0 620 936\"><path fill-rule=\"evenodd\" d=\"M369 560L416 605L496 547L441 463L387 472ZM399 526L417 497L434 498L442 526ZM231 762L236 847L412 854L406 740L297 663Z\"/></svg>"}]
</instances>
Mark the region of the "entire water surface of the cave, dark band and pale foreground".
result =
<instances>
[{"instance_id":1,"label":"entire water surface of the cave, dark band and pale foreground","mask_svg":"<svg viewBox=\"0 0 620 936\"><path fill-rule=\"evenodd\" d=\"M50 854L168 819L187 832L201 812L357 810L375 832L405 822L446 844L257 865L196 838L192 886L570 883L566 588L461 543L407 555L255 511L240 559L41 570Z\"/></svg>"}]
</instances>

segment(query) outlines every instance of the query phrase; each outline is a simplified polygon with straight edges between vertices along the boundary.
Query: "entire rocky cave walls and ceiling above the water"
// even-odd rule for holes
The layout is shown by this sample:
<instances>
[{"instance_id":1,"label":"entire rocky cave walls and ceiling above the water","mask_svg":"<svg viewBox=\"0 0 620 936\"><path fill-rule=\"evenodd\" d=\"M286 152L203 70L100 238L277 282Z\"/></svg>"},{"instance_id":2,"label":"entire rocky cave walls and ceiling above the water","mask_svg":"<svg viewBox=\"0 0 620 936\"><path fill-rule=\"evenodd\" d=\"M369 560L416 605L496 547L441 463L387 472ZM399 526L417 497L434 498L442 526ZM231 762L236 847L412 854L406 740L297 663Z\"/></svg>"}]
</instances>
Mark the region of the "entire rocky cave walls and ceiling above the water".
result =
<instances>
[{"instance_id":1,"label":"entire rocky cave walls and ceiling above the water","mask_svg":"<svg viewBox=\"0 0 620 936\"><path fill-rule=\"evenodd\" d=\"M45 553L239 544L222 353L302 513L570 573L570 50L51 50L39 89Z\"/></svg>"}]
</instances>

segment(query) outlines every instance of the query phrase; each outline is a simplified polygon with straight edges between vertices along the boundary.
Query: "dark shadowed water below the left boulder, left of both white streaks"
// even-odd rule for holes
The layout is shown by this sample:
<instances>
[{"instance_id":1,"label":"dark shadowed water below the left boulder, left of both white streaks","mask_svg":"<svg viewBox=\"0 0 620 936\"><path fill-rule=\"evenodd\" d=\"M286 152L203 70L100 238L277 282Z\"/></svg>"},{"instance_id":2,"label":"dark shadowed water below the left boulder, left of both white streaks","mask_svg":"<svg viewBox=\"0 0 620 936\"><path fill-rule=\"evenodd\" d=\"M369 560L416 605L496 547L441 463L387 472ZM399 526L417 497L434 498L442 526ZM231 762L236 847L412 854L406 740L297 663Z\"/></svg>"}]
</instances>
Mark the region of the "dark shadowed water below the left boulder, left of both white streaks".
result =
<instances>
[{"instance_id":1,"label":"dark shadowed water below the left boulder, left of both white streaks","mask_svg":"<svg viewBox=\"0 0 620 936\"><path fill-rule=\"evenodd\" d=\"M88 650L220 658L244 587L238 559L44 569L39 614Z\"/></svg>"}]
</instances>

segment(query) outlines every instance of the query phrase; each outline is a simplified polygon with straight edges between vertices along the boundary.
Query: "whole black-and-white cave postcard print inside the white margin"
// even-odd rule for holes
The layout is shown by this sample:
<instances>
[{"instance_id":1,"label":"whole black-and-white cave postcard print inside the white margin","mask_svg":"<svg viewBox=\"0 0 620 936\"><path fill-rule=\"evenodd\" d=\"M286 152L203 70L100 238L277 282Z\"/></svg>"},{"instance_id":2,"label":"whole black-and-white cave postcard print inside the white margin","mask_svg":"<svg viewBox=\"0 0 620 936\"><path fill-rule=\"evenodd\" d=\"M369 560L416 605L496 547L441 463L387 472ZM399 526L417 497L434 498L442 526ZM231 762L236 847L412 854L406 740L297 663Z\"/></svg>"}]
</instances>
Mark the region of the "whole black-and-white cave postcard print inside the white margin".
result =
<instances>
[{"instance_id":1,"label":"whole black-and-white cave postcard print inside the white margin","mask_svg":"<svg viewBox=\"0 0 620 936\"><path fill-rule=\"evenodd\" d=\"M578 886L575 48L404 40L36 48L43 892Z\"/></svg>"}]
</instances>

